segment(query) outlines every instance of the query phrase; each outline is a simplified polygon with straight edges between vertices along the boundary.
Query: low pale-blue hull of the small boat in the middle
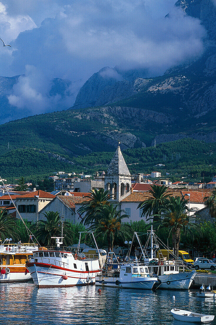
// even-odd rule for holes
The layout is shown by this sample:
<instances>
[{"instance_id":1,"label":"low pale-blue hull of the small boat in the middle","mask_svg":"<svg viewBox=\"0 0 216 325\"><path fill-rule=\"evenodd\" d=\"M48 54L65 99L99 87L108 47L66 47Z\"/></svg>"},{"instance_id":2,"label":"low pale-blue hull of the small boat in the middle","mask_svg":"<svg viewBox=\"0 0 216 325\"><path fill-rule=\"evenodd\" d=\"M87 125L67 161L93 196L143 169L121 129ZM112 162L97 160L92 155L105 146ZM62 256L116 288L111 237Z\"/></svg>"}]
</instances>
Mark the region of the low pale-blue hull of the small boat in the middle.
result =
<instances>
[{"instance_id":1,"label":"low pale-blue hull of the small boat in the middle","mask_svg":"<svg viewBox=\"0 0 216 325\"><path fill-rule=\"evenodd\" d=\"M132 278L131 281L121 281L120 278L105 277L103 275L96 275L96 285L102 285L104 287L120 287L127 289L139 289L139 290L152 290L154 284L157 282L157 278Z\"/></svg>"}]
</instances>

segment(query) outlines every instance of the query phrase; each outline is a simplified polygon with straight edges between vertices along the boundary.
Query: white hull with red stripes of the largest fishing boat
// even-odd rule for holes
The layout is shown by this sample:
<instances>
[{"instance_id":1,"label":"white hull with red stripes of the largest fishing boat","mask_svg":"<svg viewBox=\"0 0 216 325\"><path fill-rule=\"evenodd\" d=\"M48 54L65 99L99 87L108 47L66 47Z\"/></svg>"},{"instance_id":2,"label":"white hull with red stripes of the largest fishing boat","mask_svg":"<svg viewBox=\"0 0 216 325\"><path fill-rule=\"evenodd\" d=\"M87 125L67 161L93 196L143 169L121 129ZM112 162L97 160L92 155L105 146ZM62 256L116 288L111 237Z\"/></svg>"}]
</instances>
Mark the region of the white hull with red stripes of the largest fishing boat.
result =
<instances>
[{"instance_id":1,"label":"white hull with red stripes of the largest fishing boat","mask_svg":"<svg viewBox=\"0 0 216 325\"><path fill-rule=\"evenodd\" d=\"M96 262L95 266L98 266L98 268L89 271L78 271L51 264L34 262L27 263L26 266L35 285L39 288L73 287L95 284L95 274L100 271L99 262Z\"/></svg>"}]
</instances>

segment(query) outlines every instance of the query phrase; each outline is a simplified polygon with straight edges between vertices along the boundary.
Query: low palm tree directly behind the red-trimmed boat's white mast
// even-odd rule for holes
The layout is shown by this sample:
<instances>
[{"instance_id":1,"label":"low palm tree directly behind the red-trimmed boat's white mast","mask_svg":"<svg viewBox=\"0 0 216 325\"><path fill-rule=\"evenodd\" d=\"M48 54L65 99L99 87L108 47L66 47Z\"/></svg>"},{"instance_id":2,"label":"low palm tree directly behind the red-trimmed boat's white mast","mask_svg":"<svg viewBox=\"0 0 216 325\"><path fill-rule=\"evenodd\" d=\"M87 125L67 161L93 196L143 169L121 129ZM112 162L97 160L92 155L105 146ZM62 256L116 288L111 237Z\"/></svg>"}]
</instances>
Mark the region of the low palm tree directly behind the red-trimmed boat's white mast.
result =
<instances>
[{"instance_id":1,"label":"low palm tree directly behind the red-trimmed boat's white mast","mask_svg":"<svg viewBox=\"0 0 216 325\"><path fill-rule=\"evenodd\" d=\"M62 232L62 221L59 212L46 211L43 214L46 220L39 220L35 228L35 237L45 246L55 246L55 239L51 237L60 237ZM63 237L65 245L72 243L72 231L70 223L64 222Z\"/></svg>"}]
</instances>

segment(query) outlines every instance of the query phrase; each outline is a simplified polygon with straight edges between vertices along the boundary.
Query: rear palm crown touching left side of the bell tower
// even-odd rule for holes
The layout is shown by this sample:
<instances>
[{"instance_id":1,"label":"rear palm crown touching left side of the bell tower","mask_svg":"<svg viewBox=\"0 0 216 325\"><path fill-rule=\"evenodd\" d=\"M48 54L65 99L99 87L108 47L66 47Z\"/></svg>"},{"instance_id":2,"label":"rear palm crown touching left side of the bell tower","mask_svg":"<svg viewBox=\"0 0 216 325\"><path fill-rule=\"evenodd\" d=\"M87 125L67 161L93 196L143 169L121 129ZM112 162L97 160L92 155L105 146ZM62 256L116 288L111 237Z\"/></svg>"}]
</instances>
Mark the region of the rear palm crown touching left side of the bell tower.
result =
<instances>
[{"instance_id":1,"label":"rear palm crown touching left side of the bell tower","mask_svg":"<svg viewBox=\"0 0 216 325\"><path fill-rule=\"evenodd\" d=\"M103 206L110 205L109 203L109 191L104 191L104 188L94 191L90 190L90 194L86 196L87 200L82 202L81 207L78 209L78 214L81 216L85 214L82 218L81 223L89 226L93 221L95 221L95 215L97 209Z\"/></svg>"}]
</instances>

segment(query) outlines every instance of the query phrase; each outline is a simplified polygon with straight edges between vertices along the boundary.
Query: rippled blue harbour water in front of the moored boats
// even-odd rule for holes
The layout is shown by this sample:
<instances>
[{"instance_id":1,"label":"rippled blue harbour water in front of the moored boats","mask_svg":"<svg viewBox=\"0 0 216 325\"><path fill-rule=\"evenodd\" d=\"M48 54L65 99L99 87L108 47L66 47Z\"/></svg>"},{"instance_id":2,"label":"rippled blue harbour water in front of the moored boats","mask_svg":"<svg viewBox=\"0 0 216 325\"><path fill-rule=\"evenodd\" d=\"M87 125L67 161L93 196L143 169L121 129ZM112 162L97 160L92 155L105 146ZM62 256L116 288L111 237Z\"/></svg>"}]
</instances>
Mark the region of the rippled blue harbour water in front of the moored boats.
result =
<instances>
[{"instance_id":1,"label":"rippled blue harbour water in front of the moored boats","mask_svg":"<svg viewBox=\"0 0 216 325\"><path fill-rule=\"evenodd\" d=\"M216 300L196 298L192 292L103 288L98 294L98 289L34 289L31 282L0 284L0 324L186 324L173 320L173 306L216 315Z\"/></svg>"}]
</instances>

